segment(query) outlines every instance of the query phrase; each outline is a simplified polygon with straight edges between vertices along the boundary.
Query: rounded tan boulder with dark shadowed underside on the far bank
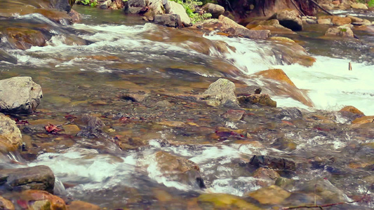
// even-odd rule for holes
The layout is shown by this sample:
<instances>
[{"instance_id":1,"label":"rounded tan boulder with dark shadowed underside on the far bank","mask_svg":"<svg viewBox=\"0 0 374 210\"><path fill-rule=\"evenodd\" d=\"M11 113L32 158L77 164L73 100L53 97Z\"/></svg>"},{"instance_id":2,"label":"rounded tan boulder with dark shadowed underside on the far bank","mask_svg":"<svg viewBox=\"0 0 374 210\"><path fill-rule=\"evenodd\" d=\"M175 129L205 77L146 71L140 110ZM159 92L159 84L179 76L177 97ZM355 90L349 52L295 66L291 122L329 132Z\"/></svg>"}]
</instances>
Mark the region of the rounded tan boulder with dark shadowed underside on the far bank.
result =
<instances>
[{"instance_id":1,"label":"rounded tan boulder with dark shadowed underside on the far bank","mask_svg":"<svg viewBox=\"0 0 374 210\"><path fill-rule=\"evenodd\" d=\"M302 20L299 18L299 12L297 10L281 10L274 15L274 18L279 20L279 23L283 25L283 27L293 31L302 30Z\"/></svg>"}]
</instances>

